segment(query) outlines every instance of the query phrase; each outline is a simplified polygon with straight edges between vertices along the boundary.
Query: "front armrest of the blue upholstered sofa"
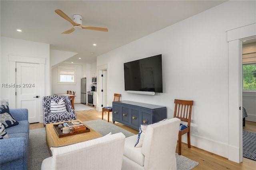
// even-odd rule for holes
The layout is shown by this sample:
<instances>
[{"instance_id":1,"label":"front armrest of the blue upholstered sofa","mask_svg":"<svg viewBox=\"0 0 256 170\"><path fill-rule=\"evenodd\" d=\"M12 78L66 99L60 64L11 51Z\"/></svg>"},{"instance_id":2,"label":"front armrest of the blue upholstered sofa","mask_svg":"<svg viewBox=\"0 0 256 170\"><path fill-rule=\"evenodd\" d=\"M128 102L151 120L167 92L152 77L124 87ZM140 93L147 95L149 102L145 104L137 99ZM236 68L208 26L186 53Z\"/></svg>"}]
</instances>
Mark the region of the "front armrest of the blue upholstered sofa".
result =
<instances>
[{"instance_id":1,"label":"front armrest of the blue upholstered sofa","mask_svg":"<svg viewBox=\"0 0 256 170\"><path fill-rule=\"evenodd\" d=\"M27 152L28 144L25 137L1 139L0 144L1 164L23 158Z\"/></svg>"}]
</instances>

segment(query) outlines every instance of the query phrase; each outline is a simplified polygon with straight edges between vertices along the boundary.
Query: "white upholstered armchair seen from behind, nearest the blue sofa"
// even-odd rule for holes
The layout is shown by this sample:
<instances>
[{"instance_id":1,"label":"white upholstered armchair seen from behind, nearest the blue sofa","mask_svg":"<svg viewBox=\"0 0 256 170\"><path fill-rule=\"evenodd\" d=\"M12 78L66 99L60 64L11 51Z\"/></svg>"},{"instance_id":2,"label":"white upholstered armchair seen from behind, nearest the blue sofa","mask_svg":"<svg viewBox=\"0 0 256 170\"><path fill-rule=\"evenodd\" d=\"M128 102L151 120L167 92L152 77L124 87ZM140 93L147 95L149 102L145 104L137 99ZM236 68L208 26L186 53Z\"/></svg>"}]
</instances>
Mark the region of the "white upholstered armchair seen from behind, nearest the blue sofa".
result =
<instances>
[{"instance_id":1,"label":"white upholstered armchair seen from behind, nearest the blue sofa","mask_svg":"<svg viewBox=\"0 0 256 170\"><path fill-rule=\"evenodd\" d=\"M51 147L52 157L41 170L120 170L124 154L123 133L105 135L64 147Z\"/></svg>"}]
</instances>

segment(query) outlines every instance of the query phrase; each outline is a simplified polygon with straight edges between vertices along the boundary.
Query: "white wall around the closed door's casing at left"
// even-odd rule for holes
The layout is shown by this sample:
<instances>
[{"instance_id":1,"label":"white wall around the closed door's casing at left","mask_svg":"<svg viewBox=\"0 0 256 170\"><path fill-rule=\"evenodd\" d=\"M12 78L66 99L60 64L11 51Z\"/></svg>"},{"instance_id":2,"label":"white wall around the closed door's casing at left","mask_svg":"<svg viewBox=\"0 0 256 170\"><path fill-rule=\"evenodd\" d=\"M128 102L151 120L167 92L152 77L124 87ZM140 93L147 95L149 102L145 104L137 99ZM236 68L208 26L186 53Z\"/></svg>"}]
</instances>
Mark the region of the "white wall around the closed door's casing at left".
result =
<instances>
[{"instance_id":1,"label":"white wall around the closed door's casing at left","mask_svg":"<svg viewBox=\"0 0 256 170\"><path fill-rule=\"evenodd\" d=\"M10 82L8 55L19 55L28 57L41 57L46 59L45 64L45 95L50 95L50 45L37 43L8 37L1 37L1 82ZM1 99L9 99L15 94L10 93L10 88L2 88ZM9 101L10 107L15 108L12 101Z\"/></svg>"}]
</instances>

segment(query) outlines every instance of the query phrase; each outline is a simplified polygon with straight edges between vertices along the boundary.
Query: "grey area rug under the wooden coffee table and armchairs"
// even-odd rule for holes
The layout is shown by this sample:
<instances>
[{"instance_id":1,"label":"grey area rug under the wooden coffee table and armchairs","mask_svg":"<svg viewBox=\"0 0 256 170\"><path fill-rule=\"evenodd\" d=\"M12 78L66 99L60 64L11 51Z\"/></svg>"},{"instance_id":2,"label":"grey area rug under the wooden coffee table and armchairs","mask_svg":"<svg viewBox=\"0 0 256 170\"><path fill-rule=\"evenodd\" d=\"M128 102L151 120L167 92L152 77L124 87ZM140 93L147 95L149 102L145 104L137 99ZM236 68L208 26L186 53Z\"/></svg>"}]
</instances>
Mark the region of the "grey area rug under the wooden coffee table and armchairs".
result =
<instances>
[{"instance_id":1,"label":"grey area rug under the wooden coffee table and armchairs","mask_svg":"<svg viewBox=\"0 0 256 170\"><path fill-rule=\"evenodd\" d=\"M112 123L108 123L102 119L85 121L88 126L104 135L108 132L122 132L126 137L134 135ZM40 170L42 161L50 157L48 147L45 140L45 128L33 129L29 132L29 152L28 152L28 170ZM188 159L185 156L176 154L177 170L191 170L198 165L198 162Z\"/></svg>"}]
</instances>

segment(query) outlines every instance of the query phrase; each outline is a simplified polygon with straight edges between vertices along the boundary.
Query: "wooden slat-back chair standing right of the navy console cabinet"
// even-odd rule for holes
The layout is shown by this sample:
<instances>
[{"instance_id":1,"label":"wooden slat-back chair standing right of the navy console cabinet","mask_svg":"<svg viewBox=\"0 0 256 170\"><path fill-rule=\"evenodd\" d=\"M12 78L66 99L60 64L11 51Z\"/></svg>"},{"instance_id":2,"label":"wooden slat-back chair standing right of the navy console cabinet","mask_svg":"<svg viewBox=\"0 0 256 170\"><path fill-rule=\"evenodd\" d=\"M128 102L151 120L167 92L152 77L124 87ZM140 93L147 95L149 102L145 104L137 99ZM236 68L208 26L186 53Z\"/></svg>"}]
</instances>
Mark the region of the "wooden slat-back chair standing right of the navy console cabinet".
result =
<instances>
[{"instance_id":1,"label":"wooden slat-back chair standing right of the navy console cabinet","mask_svg":"<svg viewBox=\"0 0 256 170\"><path fill-rule=\"evenodd\" d=\"M180 123L179 135L178 135L178 154L181 155L181 136L185 133L188 133L188 148L190 145L190 121L191 121L191 112L194 101L193 100L174 100L174 116L179 118L182 123ZM187 122L183 124L183 122Z\"/></svg>"}]
</instances>

